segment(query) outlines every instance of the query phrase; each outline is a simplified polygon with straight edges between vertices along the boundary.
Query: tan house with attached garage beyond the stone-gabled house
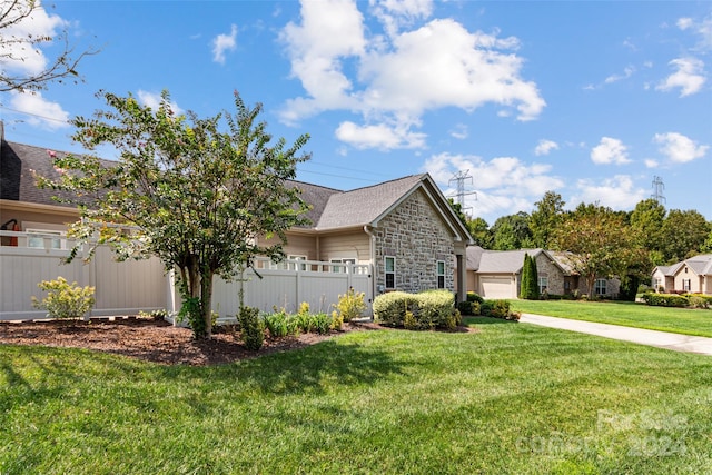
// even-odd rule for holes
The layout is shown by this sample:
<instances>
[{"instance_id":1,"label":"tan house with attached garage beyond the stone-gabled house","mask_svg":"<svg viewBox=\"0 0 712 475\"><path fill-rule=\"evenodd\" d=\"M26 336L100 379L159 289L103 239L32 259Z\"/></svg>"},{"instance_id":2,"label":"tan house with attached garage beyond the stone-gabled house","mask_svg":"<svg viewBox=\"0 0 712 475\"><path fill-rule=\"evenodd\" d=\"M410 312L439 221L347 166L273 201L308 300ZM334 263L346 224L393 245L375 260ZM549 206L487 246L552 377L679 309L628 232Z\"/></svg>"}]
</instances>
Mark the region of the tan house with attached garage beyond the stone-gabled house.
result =
<instances>
[{"instance_id":1,"label":"tan house with attached garage beyond the stone-gabled house","mask_svg":"<svg viewBox=\"0 0 712 475\"><path fill-rule=\"evenodd\" d=\"M518 298L525 254L536 260L540 293L587 293L584 280L571 269L566 253L545 249L487 250L479 246L467 248L467 290L484 298ZM596 279L594 293L597 296L615 297L619 290L617 279Z\"/></svg>"}]
</instances>

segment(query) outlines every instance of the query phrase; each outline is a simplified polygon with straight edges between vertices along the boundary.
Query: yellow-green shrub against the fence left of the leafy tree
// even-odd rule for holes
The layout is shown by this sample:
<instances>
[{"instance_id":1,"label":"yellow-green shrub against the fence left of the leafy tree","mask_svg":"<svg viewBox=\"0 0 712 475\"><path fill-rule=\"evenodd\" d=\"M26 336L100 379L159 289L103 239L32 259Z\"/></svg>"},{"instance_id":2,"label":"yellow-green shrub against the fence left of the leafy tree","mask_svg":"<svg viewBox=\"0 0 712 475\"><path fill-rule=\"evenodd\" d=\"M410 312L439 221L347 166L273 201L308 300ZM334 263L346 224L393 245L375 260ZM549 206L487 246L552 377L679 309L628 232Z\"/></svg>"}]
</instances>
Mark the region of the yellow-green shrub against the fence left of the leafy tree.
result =
<instances>
[{"instance_id":1,"label":"yellow-green shrub against the fence left of the leafy tree","mask_svg":"<svg viewBox=\"0 0 712 475\"><path fill-rule=\"evenodd\" d=\"M32 306L47 310L51 318L79 319L93 307L93 287L79 287L76 281L69 284L63 277L42 280L37 286L48 294L42 300L32 296Z\"/></svg>"}]
</instances>

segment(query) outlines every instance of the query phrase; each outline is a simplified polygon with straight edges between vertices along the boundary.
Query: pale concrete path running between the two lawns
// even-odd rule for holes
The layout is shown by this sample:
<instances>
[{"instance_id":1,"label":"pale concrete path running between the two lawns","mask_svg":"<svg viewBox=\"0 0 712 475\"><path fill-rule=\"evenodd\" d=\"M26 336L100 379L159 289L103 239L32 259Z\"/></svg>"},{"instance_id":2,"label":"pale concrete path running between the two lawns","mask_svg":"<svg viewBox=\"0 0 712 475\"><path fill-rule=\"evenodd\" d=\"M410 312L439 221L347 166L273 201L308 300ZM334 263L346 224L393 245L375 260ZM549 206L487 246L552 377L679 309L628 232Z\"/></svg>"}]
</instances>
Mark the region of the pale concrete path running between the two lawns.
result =
<instances>
[{"instance_id":1,"label":"pale concrete path running between the two lawns","mask_svg":"<svg viewBox=\"0 0 712 475\"><path fill-rule=\"evenodd\" d=\"M712 338L678 335L666 331L622 327L620 325L596 324L593 321L570 320L567 318L545 317L543 315L522 314L520 321L543 327L597 335L605 338L656 346L675 352L699 353L712 356Z\"/></svg>"}]
</instances>

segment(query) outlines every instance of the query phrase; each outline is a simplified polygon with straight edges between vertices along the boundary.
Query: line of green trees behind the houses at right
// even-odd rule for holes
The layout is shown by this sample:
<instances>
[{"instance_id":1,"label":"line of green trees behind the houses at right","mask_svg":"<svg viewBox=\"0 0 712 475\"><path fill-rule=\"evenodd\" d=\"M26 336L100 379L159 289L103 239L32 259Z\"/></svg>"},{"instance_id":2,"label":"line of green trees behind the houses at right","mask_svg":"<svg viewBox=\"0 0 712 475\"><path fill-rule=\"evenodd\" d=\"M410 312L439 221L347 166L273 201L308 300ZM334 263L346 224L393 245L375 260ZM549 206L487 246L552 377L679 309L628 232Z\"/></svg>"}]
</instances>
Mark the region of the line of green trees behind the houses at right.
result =
<instances>
[{"instance_id":1,"label":"line of green trees behind the houses at right","mask_svg":"<svg viewBox=\"0 0 712 475\"><path fill-rule=\"evenodd\" d=\"M476 245L493 250L570 251L574 269L591 278L646 280L654 266L712 253L712 221L696 210L668 210L654 199L640 201L632 211L597 204L580 204L573 210L564 206L561 195L546 191L531 214L503 216L488 226L482 218L469 219L453 204Z\"/></svg>"}]
</instances>

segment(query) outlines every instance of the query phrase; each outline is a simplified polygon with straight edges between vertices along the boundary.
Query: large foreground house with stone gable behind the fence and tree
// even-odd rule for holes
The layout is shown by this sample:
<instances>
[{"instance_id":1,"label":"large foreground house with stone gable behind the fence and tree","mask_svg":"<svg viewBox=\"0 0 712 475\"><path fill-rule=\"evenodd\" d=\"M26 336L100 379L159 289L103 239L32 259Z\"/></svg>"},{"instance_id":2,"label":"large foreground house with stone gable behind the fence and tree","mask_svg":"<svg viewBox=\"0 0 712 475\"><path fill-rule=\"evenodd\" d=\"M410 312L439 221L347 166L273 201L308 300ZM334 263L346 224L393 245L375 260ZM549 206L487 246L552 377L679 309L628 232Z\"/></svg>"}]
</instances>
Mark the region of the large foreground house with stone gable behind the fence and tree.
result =
<instances>
[{"instance_id":1,"label":"large foreground house with stone gable behind the fence and tree","mask_svg":"<svg viewBox=\"0 0 712 475\"><path fill-rule=\"evenodd\" d=\"M67 224L78 218L77 209L53 201L57 191L38 189L33 179L33 172L58 177L60 170L52 167L50 155L61 152L8 142L4 137L0 151L0 225L56 234L52 247L61 249ZM330 263L330 270L336 271L345 270L338 264L368 264L374 269L370 295L466 287L462 264L472 237L429 175L352 191L299 181L291 185L310 206L307 218L312 225L287 232L284 250L288 258ZM39 238L37 247L44 244L46 237ZM22 245L31 247L32 238ZM456 275L457 263L463 270Z\"/></svg>"}]
</instances>

